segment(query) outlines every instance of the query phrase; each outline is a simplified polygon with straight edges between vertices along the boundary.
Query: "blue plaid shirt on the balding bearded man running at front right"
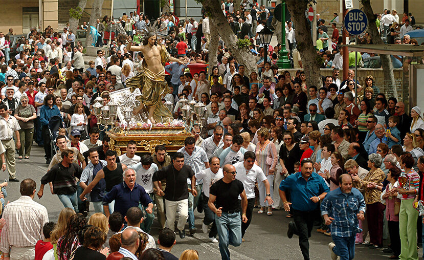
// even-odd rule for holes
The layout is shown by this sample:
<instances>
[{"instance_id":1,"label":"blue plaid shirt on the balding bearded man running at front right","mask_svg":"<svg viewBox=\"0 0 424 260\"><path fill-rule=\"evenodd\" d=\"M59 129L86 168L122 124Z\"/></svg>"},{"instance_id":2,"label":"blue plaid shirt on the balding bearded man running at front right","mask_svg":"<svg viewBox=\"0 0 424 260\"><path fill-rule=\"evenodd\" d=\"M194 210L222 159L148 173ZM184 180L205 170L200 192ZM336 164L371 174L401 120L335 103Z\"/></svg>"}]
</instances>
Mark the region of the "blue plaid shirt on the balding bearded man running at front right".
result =
<instances>
[{"instance_id":1,"label":"blue plaid shirt on the balding bearded man running at front right","mask_svg":"<svg viewBox=\"0 0 424 260\"><path fill-rule=\"evenodd\" d=\"M349 237L360 233L359 211L365 213L365 201L361 192L352 188L350 193L342 193L340 187L327 193L321 203L321 215L334 218L331 223L331 235Z\"/></svg>"}]
</instances>

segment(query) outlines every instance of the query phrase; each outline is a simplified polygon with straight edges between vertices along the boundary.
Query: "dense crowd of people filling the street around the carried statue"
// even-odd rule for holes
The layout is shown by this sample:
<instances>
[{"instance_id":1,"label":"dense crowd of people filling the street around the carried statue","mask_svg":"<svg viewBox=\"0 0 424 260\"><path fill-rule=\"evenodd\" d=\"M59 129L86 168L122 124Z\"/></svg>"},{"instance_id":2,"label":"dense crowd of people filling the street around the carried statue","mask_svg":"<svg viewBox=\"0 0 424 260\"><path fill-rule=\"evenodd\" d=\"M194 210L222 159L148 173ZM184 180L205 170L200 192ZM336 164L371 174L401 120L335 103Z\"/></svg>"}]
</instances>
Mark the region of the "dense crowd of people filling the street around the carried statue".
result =
<instances>
[{"instance_id":1,"label":"dense crowd of people filling the street around the carried statue","mask_svg":"<svg viewBox=\"0 0 424 260\"><path fill-rule=\"evenodd\" d=\"M211 70L192 74L187 64L165 64L171 94L162 102L174 105L174 119L182 119L182 99L202 102L207 109L204 121L194 123L192 136L172 154L158 145L153 154L139 156L137 142L128 141L126 153L118 156L105 129L97 127L94 100L101 97L107 104L111 92L124 89L126 79L141 71L143 54L127 50L126 42L114 38L107 57L97 51L88 68L82 47L74 46L75 35L66 27L63 33L50 27L42 33L32 30L18 41L16 56L4 52L2 170L8 170L9 181L19 182L16 162L30 158L33 140L44 148L48 164L38 191L38 180L25 179L21 197L0 207L4 259L177 259L171 253L175 234L184 239L187 222L190 235L198 232L195 210L204 213L202 232L218 243L222 259L230 259L229 245L244 242L253 212L272 218L274 210L285 210L286 218L293 219L287 235L299 236L304 259L310 258L308 237L314 226L332 237L333 259L352 259L358 244L383 248L386 231L391 243L384 252L390 258L418 259L417 244L424 242L415 209L424 201L420 107L406 111L403 102L380 91L372 76L355 82L349 70L347 79L340 78L338 62L331 61L334 51L324 44L329 37L319 15L318 35L328 61L324 67L333 68L322 77L320 89L307 85L301 70L291 75L275 67L281 46L264 50L257 37L269 17L264 6L256 0L251 5L243 0L239 10L232 0L221 4L237 37L256 38L250 48L257 70L250 75L222 40L218 63L209 64L206 14L199 23L173 14L154 22L132 12L119 18L132 44L147 42L132 26L142 30L153 23L159 29L157 43L172 57L206 63ZM404 15L403 26L408 27L411 16ZM115 21L105 17L96 23L102 32ZM331 23L337 25L337 13ZM294 55L292 26L288 21ZM8 40L0 33L0 42L2 38ZM98 45L103 45L101 37ZM60 127L53 139L54 120ZM33 201L42 198L45 185L64 207L56 223ZM4 204L7 182L0 186ZM95 212L87 220L90 204ZM154 221L160 229L156 242L149 234ZM198 257L188 249L180 259Z\"/></svg>"}]
</instances>

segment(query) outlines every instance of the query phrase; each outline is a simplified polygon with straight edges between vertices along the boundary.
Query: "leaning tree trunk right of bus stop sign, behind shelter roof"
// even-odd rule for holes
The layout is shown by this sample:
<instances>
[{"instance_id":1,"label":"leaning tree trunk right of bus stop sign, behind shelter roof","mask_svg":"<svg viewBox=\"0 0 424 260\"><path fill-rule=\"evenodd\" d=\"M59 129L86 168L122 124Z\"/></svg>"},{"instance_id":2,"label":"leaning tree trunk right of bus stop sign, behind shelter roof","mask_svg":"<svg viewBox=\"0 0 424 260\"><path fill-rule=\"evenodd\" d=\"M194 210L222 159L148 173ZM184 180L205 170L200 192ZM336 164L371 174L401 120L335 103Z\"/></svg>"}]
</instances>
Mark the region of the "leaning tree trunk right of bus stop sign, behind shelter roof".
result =
<instances>
[{"instance_id":1,"label":"leaning tree trunk right of bus stop sign, behind shelter roof","mask_svg":"<svg viewBox=\"0 0 424 260\"><path fill-rule=\"evenodd\" d=\"M370 0L363 0L362 5L364 7L364 12L368 18L368 33L371 36L372 43L374 45L384 45L383 39L380 36L380 33L377 31L377 25L375 24L374 12L372 11ZM396 82L394 80L393 74L393 65L392 60L389 54L380 54L382 66L383 66L383 75L384 75L384 84L385 89L393 90L393 96L398 99Z\"/></svg>"}]
</instances>

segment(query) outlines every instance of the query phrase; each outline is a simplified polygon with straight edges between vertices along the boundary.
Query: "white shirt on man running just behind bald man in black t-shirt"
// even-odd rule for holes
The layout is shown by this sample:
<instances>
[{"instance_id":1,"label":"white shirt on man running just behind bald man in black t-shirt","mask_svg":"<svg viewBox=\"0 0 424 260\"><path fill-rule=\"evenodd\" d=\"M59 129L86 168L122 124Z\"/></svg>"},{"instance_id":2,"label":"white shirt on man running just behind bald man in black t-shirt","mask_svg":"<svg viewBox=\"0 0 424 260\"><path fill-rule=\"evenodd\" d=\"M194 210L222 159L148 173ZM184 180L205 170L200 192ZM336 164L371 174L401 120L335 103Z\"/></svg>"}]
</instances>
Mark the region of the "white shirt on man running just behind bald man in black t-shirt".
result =
<instances>
[{"instance_id":1,"label":"white shirt on man running just behind bald man in black t-shirt","mask_svg":"<svg viewBox=\"0 0 424 260\"><path fill-rule=\"evenodd\" d=\"M237 172L236 179L243 183L247 198L255 198L255 183L266 180L266 176L261 167L254 164L250 170L246 170L246 168L244 168L244 161L236 163L233 166L236 168ZM238 199L241 200L240 196Z\"/></svg>"}]
</instances>

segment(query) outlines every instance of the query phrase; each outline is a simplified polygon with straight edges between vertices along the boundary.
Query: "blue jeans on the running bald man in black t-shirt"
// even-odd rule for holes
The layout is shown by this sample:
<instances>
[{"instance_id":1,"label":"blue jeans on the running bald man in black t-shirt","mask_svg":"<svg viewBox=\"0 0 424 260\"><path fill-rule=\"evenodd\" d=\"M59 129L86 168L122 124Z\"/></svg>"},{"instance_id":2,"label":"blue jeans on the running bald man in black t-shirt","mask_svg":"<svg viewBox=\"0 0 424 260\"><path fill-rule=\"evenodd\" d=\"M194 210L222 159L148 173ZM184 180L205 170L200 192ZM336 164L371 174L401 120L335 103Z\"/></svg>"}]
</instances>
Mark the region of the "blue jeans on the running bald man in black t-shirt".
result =
<instances>
[{"instance_id":1,"label":"blue jeans on the running bald man in black t-shirt","mask_svg":"<svg viewBox=\"0 0 424 260\"><path fill-rule=\"evenodd\" d=\"M241 216L240 212L222 212L215 218L219 237L219 252L222 260L230 259L228 245L238 247L241 244Z\"/></svg>"}]
</instances>

